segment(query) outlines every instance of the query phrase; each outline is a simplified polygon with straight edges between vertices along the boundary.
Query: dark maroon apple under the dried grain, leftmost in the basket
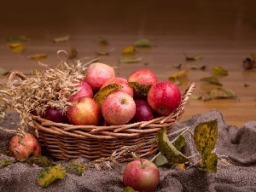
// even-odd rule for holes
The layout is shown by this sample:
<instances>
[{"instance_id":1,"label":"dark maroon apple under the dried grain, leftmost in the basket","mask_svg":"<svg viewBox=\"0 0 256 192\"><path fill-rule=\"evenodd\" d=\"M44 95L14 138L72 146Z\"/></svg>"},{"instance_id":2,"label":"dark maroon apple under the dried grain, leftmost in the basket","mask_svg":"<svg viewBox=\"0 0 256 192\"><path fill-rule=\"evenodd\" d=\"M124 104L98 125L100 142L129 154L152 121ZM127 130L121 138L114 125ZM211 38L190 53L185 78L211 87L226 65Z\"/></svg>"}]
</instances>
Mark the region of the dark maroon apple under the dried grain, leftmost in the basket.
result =
<instances>
[{"instance_id":1,"label":"dark maroon apple under the dried grain, leftmost in the basket","mask_svg":"<svg viewBox=\"0 0 256 192\"><path fill-rule=\"evenodd\" d=\"M44 110L44 114L41 115L43 119L54 121L55 123L67 124L67 113L63 113L61 108L48 107Z\"/></svg>"}]
</instances>

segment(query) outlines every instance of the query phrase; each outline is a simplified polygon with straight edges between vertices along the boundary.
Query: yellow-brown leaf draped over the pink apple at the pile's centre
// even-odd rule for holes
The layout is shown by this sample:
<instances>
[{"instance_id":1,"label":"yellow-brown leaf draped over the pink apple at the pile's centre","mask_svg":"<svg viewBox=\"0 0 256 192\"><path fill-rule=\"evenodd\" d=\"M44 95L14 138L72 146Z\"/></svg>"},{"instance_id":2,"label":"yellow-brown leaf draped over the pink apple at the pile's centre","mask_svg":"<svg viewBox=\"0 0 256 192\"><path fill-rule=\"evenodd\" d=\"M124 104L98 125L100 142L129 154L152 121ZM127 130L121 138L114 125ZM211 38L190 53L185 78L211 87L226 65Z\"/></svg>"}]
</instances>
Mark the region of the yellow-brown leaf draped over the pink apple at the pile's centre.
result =
<instances>
[{"instance_id":1,"label":"yellow-brown leaf draped over the pink apple at the pile's centre","mask_svg":"<svg viewBox=\"0 0 256 192\"><path fill-rule=\"evenodd\" d=\"M107 98L107 96L113 93L115 90L123 88L120 84L108 84L99 90L93 99L98 103L99 107L102 107L102 102Z\"/></svg>"}]
</instances>

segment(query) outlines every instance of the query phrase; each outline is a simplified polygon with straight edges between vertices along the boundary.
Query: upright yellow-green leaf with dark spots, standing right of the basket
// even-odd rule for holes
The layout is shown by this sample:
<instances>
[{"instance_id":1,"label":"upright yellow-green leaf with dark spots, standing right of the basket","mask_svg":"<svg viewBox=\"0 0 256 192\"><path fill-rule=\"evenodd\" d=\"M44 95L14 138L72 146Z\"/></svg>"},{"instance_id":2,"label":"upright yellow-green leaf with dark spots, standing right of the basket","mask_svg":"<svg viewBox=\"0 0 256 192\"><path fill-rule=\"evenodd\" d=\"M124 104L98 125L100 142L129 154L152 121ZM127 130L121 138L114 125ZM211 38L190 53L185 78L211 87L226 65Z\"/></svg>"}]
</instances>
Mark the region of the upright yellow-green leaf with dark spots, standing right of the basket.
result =
<instances>
[{"instance_id":1,"label":"upright yellow-green leaf with dark spots, standing right of the basket","mask_svg":"<svg viewBox=\"0 0 256 192\"><path fill-rule=\"evenodd\" d=\"M218 156L212 153L218 138L218 120L210 120L196 125L194 141L197 151L201 154L200 168L207 172L216 172Z\"/></svg>"}]
</instances>

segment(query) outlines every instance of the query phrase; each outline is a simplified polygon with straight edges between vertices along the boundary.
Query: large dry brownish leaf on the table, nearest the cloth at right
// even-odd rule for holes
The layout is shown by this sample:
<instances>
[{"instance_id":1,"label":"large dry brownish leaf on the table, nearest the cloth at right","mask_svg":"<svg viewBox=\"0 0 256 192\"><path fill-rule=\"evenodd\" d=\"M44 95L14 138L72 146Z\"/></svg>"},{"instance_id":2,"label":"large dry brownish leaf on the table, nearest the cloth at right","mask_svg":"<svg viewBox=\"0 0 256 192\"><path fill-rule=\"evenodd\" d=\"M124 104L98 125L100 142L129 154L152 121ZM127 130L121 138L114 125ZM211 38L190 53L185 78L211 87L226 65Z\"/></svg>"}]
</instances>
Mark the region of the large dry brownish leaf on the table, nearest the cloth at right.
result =
<instances>
[{"instance_id":1,"label":"large dry brownish leaf on the table, nearest the cloth at right","mask_svg":"<svg viewBox=\"0 0 256 192\"><path fill-rule=\"evenodd\" d=\"M225 98L237 98L233 90L218 88L216 90L211 90L205 95L201 96L202 101L212 100L212 99L225 99Z\"/></svg>"}]
</instances>

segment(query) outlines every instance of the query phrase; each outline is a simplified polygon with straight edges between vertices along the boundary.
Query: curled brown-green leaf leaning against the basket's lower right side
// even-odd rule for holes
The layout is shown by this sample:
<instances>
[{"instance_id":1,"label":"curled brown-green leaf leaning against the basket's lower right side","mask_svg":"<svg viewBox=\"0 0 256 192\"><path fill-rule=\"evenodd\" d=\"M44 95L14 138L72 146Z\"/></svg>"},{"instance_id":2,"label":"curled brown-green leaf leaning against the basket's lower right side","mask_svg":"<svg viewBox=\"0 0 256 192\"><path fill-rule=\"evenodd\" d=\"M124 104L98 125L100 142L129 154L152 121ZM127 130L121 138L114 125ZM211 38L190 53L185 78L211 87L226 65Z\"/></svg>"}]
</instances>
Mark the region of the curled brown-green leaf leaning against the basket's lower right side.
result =
<instances>
[{"instance_id":1,"label":"curled brown-green leaf leaning against the basket's lower right side","mask_svg":"<svg viewBox=\"0 0 256 192\"><path fill-rule=\"evenodd\" d=\"M166 134L166 128L162 128L157 133L158 148L168 161L172 164L182 164L189 161L189 157L182 154L169 140ZM180 146L181 148L182 146Z\"/></svg>"}]
</instances>

